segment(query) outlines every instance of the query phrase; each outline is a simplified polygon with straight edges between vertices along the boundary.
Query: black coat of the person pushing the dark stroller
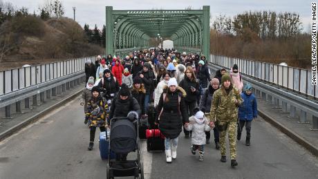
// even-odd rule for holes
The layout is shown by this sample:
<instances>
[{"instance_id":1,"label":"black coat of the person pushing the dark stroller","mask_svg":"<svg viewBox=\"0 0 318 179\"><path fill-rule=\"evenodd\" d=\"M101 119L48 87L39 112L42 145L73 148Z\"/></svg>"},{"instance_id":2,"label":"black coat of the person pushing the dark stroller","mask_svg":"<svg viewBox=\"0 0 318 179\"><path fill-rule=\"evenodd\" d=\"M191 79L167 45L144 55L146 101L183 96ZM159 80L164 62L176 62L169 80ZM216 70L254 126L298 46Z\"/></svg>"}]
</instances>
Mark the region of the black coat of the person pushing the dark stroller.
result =
<instances>
[{"instance_id":1,"label":"black coat of the person pushing the dark stroller","mask_svg":"<svg viewBox=\"0 0 318 179\"><path fill-rule=\"evenodd\" d=\"M140 116L141 110L138 101L132 95L129 95L127 100L120 99L120 95L117 95L111 102L111 113L109 114L109 120L113 117L127 117L130 111L135 111ZM110 121L108 121L110 122Z\"/></svg>"}]
</instances>

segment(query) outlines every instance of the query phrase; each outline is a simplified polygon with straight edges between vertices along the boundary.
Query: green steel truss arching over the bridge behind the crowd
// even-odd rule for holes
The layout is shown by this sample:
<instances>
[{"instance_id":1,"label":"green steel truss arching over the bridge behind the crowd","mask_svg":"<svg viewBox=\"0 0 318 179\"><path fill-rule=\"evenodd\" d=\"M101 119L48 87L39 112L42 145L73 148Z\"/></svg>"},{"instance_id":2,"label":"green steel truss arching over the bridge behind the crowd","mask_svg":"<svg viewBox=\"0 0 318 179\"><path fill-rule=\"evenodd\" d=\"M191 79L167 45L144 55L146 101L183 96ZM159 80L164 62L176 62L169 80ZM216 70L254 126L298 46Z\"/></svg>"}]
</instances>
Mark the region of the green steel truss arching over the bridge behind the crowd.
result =
<instances>
[{"instance_id":1,"label":"green steel truss arching over the bridge behind the crowd","mask_svg":"<svg viewBox=\"0 0 318 179\"><path fill-rule=\"evenodd\" d=\"M127 55L147 48L151 38L171 39L177 50L209 58L209 6L203 10L113 10L106 6L106 54Z\"/></svg>"}]
</instances>

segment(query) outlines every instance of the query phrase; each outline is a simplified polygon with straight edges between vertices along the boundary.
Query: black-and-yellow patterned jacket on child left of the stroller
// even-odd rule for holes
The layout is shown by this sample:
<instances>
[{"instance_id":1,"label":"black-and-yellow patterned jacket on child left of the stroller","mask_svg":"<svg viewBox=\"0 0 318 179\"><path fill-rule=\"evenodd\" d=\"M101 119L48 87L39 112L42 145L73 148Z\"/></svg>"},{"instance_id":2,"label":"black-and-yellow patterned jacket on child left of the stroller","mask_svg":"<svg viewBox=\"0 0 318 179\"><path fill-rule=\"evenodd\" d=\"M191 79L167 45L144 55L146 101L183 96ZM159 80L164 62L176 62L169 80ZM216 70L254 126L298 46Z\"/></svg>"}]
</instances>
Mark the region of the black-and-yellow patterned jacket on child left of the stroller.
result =
<instances>
[{"instance_id":1,"label":"black-and-yellow patterned jacket on child left of the stroller","mask_svg":"<svg viewBox=\"0 0 318 179\"><path fill-rule=\"evenodd\" d=\"M105 126L106 124L106 113L109 109L107 103L101 96L91 97L91 100L87 103L86 119L88 120L89 126Z\"/></svg>"}]
</instances>

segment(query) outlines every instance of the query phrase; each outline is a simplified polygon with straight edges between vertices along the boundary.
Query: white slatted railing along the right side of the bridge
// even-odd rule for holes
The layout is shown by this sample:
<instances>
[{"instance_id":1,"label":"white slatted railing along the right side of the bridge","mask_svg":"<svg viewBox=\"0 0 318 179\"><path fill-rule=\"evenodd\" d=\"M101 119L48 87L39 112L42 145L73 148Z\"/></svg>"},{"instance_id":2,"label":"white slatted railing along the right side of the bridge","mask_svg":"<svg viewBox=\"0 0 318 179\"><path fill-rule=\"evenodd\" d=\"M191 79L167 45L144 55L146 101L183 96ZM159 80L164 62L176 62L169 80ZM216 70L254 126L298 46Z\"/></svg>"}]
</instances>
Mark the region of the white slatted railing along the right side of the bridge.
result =
<instances>
[{"instance_id":1,"label":"white slatted railing along the right side of the bridge","mask_svg":"<svg viewBox=\"0 0 318 179\"><path fill-rule=\"evenodd\" d=\"M211 55L211 62L225 68L232 68L234 64L237 64L243 75L276 84L317 100L318 87L311 85L310 70L221 55Z\"/></svg>"}]
</instances>

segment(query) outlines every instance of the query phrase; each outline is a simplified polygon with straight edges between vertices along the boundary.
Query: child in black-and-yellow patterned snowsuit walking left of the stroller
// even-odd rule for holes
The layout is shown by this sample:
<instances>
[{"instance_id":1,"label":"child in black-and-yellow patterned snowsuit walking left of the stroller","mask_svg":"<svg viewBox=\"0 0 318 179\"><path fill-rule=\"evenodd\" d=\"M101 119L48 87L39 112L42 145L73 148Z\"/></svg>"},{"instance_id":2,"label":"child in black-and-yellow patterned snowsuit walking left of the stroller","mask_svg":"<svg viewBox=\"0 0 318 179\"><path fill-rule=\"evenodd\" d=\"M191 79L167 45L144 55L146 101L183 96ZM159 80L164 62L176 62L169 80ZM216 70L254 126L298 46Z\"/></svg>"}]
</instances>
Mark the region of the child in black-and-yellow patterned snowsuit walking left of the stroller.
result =
<instances>
[{"instance_id":1,"label":"child in black-and-yellow patterned snowsuit walking left of the stroller","mask_svg":"<svg viewBox=\"0 0 318 179\"><path fill-rule=\"evenodd\" d=\"M93 150L95 131L99 127L100 131L105 131L106 125L106 113L105 111L109 108L102 96L100 95L100 90L97 86L93 86L91 100L87 103L86 119L88 120L88 126L91 129L89 136L88 150Z\"/></svg>"}]
</instances>

